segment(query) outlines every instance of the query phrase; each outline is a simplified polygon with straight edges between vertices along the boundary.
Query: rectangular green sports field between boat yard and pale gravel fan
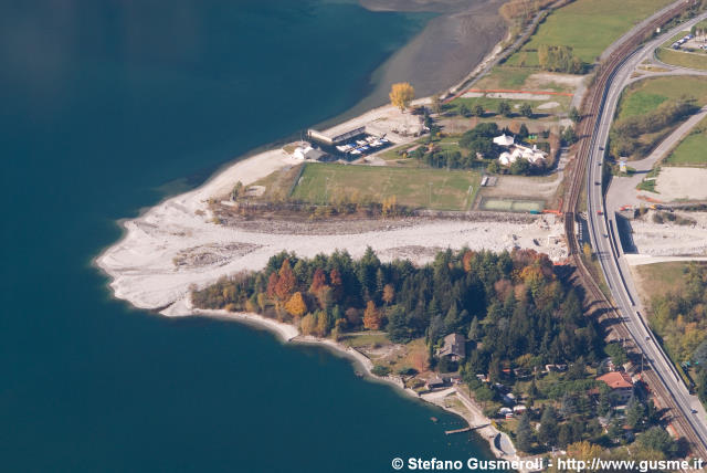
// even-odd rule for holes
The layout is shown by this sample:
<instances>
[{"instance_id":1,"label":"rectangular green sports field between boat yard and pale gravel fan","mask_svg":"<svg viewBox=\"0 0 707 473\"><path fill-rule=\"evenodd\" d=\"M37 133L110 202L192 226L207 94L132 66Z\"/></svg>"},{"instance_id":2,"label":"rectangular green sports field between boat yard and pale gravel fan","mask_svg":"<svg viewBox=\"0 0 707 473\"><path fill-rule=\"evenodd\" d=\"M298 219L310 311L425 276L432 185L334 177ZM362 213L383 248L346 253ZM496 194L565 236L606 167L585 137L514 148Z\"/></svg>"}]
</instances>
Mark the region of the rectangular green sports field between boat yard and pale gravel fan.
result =
<instances>
[{"instance_id":1,"label":"rectangular green sports field between boat yard and pale gravel fan","mask_svg":"<svg viewBox=\"0 0 707 473\"><path fill-rule=\"evenodd\" d=\"M481 185L475 171L307 164L293 191L305 202L325 203L342 197L382 202L395 196L398 204L434 210L467 210ZM471 188L471 193L469 193Z\"/></svg>"}]
</instances>

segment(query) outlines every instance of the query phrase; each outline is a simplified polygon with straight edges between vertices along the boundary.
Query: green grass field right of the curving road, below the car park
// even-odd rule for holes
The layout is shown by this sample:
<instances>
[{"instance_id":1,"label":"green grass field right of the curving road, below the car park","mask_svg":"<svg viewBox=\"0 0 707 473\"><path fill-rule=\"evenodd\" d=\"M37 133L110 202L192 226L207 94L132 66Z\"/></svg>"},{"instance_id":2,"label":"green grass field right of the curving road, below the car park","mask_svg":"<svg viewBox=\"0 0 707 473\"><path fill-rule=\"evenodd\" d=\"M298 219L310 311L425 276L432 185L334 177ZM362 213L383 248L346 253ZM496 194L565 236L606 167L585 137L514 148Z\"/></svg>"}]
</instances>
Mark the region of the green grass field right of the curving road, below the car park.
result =
<instances>
[{"instance_id":1,"label":"green grass field right of the curving road, below the car park","mask_svg":"<svg viewBox=\"0 0 707 473\"><path fill-rule=\"evenodd\" d=\"M619 103L618 118L643 115L668 99L695 98L707 104L707 77L657 77L637 82L626 88Z\"/></svg>"}]
</instances>

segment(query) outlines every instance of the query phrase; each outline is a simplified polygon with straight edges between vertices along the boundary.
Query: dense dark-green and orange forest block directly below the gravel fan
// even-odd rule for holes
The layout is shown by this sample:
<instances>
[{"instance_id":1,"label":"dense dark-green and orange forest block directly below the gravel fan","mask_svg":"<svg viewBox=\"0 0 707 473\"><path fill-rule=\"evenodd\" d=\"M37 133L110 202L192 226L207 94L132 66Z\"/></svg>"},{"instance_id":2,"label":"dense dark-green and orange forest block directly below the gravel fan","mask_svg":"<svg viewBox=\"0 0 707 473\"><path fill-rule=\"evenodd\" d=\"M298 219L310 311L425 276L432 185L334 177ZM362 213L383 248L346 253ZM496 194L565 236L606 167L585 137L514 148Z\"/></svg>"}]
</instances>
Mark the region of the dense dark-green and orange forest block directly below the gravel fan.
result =
<instances>
[{"instance_id":1,"label":"dense dark-green and orange forest block directly below the gravel fan","mask_svg":"<svg viewBox=\"0 0 707 473\"><path fill-rule=\"evenodd\" d=\"M339 336L382 329L395 343L425 337L430 347L461 333L482 346L475 372L500 365L599 359L603 340L576 290L531 250L494 254L447 250L433 263L381 263L370 249L300 259L279 253L260 272L222 278L192 293L196 306L257 312L299 324L305 334Z\"/></svg>"}]
</instances>

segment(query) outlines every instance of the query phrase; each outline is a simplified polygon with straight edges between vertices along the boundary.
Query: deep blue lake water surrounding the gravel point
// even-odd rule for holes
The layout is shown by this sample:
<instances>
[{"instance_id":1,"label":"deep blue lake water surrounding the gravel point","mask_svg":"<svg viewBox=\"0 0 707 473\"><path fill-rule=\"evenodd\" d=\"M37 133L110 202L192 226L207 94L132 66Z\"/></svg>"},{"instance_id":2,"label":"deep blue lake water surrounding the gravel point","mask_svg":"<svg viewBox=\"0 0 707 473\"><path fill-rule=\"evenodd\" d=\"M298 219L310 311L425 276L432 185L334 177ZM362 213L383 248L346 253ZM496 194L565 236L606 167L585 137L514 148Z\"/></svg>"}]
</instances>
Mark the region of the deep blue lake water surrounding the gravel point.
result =
<instances>
[{"instance_id":1,"label":"deep blue lake water surrounding the gravel point","mask_svg":"<svg viewBox=\"0 0 707 473\"><path fill-rule=\"evenodd\" d=\"M426 15L352 1L0 6L0 470L391 471L488 458L348 360L115 301L116 220L354 106ZM433 423L430 417L440 418Z\"/></svg>"}]
</instances>

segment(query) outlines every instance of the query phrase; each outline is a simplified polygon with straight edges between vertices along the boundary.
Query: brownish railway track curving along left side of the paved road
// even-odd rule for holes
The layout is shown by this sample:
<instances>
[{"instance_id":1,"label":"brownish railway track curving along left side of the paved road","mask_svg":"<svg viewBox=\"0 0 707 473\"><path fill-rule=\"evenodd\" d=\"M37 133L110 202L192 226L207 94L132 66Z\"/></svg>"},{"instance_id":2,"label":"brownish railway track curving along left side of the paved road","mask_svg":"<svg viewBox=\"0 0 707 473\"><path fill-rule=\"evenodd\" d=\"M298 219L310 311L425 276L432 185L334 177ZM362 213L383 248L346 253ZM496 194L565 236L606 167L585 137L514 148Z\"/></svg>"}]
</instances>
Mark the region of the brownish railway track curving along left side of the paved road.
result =
<instances>
[{"instance_id":1,"label":"brownish railway track curving along left side of the paved road","mask_svg":"<svg viewBox=\"0 0 707 473\"><path fill-rule=\"evenodd\" d=\"M609 57L599 66L594 82L588 95L582 103L582 116L583 119L577 127L580 141L577 145L577 155L574 158L574 169L571 174L570 185L568 187L566 198L563 200L562 212L564 217L564 232L567 236L569 260L570 264L576 267L576 274L578 283L584 287L587 294L587 303L594 307L594 309L601 311L603 317L613 318L619 323L612 324L612 329L621 339L632 340L633 336L629 328L623 324L621 314L614 304L606 297L601 291L599 284L591 275L584 262L580 256L579 241L574 231L577 207L579 203L579 197L582 189L582 182L584 180L584 172L587 171L590 160L591 149L593 146L593 137L599 126L602 107L604 104L604 96L608 91L613 75L620 69L626 59L629 59L643 43L644 39L652 34L656 28L663 27L671 19L683 13L688 7L688 3L682 3L675 8L664 12L656 17L652 21L647 22L641 30L639 30L631 38L621 43ZM634 340L635 341L635 340ZM637 344L636 344L637 346ZM688 419L682 413L676 399L669 389L661 379L661 376L651 368L648 362L648 369L645 369L641 376L644 382L648 386L648 389L657 398L661 408L667 409L669 414L668 419L673 428L677 431L678 435L685 438L692 448L692 453L696 456L707 458L707 449L698 438L697 432L692 427Z\"/></svg>"}]
</instances>

